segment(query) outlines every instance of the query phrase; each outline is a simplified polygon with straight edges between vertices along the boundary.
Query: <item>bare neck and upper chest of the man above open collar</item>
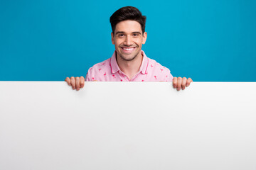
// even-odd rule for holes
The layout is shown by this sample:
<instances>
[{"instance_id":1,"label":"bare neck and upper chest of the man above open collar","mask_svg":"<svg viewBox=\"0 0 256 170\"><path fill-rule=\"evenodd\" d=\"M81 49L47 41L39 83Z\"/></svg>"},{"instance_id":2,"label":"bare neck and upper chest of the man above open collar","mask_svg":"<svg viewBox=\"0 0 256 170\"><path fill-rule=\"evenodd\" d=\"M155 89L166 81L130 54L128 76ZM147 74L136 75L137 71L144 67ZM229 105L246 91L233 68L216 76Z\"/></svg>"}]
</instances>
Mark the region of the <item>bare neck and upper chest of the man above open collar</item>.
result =
<instances>
[{"instance_id":1,"label":"bare neck and upper chest of the man above open collar","mask_svg":"<svg viewBox=\"0 0 256 170\"><path fill-rule=\"evenodd\" d=\"M116 53L117 54L117 53ZM139 72L139 68L142 65L143 55L142 52L139 52L137 57L134 58L132 61L122 60L119 55L117 55L117 64L124 74L126 74L129 79Z\"/></svg>"}]
</instances>

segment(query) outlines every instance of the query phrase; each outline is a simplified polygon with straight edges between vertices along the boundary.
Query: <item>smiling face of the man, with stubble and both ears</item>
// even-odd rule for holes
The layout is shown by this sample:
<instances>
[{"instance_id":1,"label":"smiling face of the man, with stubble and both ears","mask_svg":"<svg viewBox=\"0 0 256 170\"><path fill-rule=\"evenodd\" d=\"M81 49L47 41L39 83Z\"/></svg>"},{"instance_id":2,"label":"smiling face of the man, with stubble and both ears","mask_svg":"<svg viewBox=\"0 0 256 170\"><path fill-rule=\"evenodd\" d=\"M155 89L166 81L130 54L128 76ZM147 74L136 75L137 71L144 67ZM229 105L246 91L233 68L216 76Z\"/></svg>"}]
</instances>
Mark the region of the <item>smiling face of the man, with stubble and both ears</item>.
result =
<instances>
[{"instance_id":1,"label":"smiling face of the man, with stubble and both ears","mask_svg":"<svg viewBox=\"0 0 256 170\"><path fill-rule=\"evenodd\" d=\"M137 21L127 20L117 23L111 36L118 57L125 61L132 61L139 56L142 44L146 42L146 32L142 34L142 26Z\"/></svg>"}]
</instances>

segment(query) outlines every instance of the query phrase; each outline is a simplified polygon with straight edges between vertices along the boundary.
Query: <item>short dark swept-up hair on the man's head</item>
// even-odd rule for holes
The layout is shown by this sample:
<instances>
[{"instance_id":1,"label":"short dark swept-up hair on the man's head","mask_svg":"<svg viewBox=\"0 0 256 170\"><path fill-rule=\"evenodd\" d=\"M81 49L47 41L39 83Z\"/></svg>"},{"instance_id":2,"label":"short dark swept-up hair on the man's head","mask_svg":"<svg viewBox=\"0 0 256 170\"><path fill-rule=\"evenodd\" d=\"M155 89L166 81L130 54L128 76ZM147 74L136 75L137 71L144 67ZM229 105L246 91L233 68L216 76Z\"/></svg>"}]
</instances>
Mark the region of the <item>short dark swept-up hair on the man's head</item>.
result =
<instances>
[{"instance_id":1,"label":"short dark swept-up hair on the man's head","mask_svg":"<svg viewBox=\"0 0 256 170\"><path fill-rule=\"evenodd\" d=\"M142 33L145 32L146 16L142 16L141 11L133 6L124 6L119 8L112 14L112 16L110 16L112 33L114 34L117 23L126 20L137 21L142 26Z\"/></svg>"}]
</instances>

